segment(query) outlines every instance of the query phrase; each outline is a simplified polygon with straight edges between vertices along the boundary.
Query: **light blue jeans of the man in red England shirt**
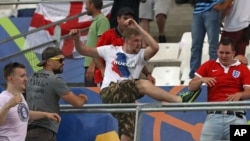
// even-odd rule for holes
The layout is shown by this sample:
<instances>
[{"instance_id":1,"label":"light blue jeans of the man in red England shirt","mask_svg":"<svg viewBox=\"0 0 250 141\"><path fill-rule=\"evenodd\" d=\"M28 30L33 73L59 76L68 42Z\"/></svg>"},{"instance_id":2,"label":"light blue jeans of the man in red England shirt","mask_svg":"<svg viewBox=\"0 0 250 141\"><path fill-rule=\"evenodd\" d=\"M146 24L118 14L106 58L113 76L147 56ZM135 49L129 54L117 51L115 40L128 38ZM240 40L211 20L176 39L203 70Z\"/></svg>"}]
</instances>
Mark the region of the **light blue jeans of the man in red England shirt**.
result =
<instances>
[{"instance_id":1,"label":"light blue jeans of the man in red England shirt","mask_svg":"<svg viewBox=\"0 0 250 141\"><path fill-rule=\"evenodd\" d=\"M243 118L239 118L235 115L208 114L201 131L200 141L229 140L232 124L247 124L247 119L244 115Z\"/></svg>"}]
</instances>

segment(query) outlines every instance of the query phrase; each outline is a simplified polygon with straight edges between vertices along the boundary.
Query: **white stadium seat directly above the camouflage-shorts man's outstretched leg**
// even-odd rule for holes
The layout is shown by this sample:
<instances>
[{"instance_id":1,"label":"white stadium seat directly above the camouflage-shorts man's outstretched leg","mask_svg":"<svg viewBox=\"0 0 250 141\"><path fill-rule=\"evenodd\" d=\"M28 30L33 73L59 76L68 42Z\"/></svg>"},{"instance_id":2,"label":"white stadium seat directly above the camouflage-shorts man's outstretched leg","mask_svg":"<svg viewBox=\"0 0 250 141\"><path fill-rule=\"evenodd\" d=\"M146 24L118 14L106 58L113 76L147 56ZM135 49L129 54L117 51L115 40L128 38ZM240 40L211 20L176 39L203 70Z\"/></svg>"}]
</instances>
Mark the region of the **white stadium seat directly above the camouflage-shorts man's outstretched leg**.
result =
<instances>
[{"instance_id":1,"label":"white stadium seat directly above the camouflage-shorts man's outstretched leg","mask_svg":"<svg viewBox=\"0 0 250 141\"><path fill-rule=\"evenodd\" d=\"M152 72L156 86L180 85L180 67L155 67Z\"/></svg>"}]
</instances>

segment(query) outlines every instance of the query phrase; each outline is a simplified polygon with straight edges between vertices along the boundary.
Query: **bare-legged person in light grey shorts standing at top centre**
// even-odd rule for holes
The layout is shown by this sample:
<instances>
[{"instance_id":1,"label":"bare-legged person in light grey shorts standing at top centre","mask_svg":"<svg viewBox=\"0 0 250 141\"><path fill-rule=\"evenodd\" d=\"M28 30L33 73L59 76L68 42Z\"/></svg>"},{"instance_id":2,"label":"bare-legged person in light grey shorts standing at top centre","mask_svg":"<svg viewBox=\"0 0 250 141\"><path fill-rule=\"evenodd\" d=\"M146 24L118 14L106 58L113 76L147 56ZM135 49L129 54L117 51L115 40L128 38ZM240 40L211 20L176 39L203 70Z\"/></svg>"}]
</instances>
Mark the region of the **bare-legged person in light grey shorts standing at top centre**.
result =
<instances>
[{"instance_id":1,"label":"bare-legged person in light grey shorts standing at top centre","mask_svg":"<svg viewBox=\"0 0 250 141\"><path fill-rule=\"evenodd\" d=\"M167 20L167 15L169 8L171 6L172 0L146 0L145 3L140 3L139 8L139 18L141 27L150 32L149 22L156 18L156 23L158 26L158 42L167 42L165 36L165 23ZM144 42L145 46L145 42Z\"/></svg>"}]
</instances>

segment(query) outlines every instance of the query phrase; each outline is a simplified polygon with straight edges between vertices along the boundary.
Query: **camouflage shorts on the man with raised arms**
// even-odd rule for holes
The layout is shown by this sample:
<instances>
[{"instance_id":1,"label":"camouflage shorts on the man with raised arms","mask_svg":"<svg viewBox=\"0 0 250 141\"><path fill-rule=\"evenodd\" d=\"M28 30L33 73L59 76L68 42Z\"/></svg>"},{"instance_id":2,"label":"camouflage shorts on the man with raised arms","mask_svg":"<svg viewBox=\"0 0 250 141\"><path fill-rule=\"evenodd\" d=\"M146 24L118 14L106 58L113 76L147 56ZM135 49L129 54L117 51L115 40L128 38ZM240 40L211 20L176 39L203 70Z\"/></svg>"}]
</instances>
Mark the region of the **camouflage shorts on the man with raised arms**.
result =
<instances>
[{"instance_id":1,"label":"camouflage shorts on the man with raised arms","mask_svg":"<svg viewBox=\"0 0 250 141\"><path fill-rule=\"evenodd\" d=\"M109 87L101 90L103 103L134 103L136 99L143 97L135 86L136 80L124 80L121 82L111 82ZM134 138L135 113L112 113L118 119L119 136L125 134Z\"/></svg>"}]
</instances>

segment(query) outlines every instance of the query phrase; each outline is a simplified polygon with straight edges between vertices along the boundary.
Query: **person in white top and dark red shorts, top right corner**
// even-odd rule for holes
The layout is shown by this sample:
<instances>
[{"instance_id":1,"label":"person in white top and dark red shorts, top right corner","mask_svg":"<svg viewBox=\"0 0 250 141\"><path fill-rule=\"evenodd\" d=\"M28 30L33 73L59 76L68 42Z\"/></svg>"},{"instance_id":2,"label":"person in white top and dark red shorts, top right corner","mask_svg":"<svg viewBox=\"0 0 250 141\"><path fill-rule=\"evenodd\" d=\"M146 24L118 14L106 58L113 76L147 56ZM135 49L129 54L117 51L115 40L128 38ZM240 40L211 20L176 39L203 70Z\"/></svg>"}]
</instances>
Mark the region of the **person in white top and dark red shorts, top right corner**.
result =
<instances>
[{"instance_id":1,"label":"person in white top and dark red shorts, top right corner","mask_svg":"<svg viewBox=\"0 0 250 141\"><path fill-rule=\"evenodd\" d=\"M250 24L250 1L234 0L233 5L225 13L222 37L230 37L235 42L235 58L243 64L248 64L245 57L246 46L249 39L246 27Z\"/></svg>"}]
</instances>

